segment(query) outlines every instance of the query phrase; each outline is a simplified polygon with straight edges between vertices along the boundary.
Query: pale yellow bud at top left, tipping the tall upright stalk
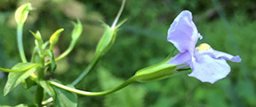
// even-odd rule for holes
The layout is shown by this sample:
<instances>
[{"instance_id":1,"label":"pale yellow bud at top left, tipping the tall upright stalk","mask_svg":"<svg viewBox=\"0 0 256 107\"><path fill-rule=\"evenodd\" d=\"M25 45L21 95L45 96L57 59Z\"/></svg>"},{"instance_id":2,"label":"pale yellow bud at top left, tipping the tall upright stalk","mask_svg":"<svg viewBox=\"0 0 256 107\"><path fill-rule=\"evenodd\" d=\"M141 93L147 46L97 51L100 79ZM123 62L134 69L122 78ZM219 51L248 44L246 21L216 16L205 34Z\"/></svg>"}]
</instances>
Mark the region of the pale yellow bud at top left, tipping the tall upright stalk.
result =
<instances>
[{"instance_id":1,"label":"pale yellow bud at top left, tipping the tall upright stalk","mask_svg":"<svg viewBox=\"0 0 256 107\"><path fill-rule=\"evenodd\" d=\"M28 12L32 10L32 6L30 3L22 4L15 11L15 20L17 24L24 24L26 19L28 18Z\"/></svg>"}]
</instances>

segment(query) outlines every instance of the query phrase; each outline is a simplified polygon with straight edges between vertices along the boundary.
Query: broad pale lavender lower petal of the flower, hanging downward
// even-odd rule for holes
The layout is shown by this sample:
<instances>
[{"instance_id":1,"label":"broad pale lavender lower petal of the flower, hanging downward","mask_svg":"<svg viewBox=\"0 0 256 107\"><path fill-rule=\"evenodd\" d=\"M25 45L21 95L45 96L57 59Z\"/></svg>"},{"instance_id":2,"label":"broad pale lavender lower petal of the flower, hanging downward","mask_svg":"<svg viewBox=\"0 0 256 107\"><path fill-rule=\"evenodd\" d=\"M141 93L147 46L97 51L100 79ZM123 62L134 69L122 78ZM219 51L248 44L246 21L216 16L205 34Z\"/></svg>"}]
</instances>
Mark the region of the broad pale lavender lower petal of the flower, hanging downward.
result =
<instances>
[{"instance_id":1,"label":"broad pale lavender lower petal of the flower, hanging downward","mask_svg":"<svg viewBox=\"0 0 256 107\"><path fill-rule=\"evenodd\" d=\"M195 57L196 60L192 62L193 71L188 74L190 77L213 84L230 73L230 66L223 58L216 59L204 53L196 53Z\"/></svg>"}]
</instances>

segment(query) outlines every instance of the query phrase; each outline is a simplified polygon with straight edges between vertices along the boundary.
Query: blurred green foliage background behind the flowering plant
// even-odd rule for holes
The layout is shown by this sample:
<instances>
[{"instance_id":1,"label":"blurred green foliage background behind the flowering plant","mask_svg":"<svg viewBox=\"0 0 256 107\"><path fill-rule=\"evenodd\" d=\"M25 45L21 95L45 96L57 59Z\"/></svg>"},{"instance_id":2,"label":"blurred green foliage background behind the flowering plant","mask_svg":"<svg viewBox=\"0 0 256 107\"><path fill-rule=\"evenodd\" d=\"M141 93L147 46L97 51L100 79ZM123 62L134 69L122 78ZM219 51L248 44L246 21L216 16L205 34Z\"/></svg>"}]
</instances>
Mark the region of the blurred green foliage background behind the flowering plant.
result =
<instances>
[{"instance_id":1,"label":"blurred green foliage background behind the flowering plant","mask_svg":"<svg viewBox=\"0 0 256 107\"><path fill-rule=\"evenodd\" d=\"M94 55L104 31L100 20L113 22L121 0L0 0L0 66L11 68L20 62L14 11L30 2L35 8L24 26L24 47L31 57L34 37L39 30L44 41L60 27L65 29L55 47L56 56L68 48L73 25L81 19L84 32L76 48L61 60L49 79L69 84L83 72ZM165 80L132 85L109 96L78 96L79 107L255 107L256 106L256 1L255 0L127 0L112 49L76 88L100 91L115 88L137 70L164 59L172 50L167 30L182 10L192 11L203 41L215 50L242 57L229 63L231 73L214 84L202 83L187 74ZM199 42L199 43L200 43ZM176 51L178 52L178 51ZM1 74L3 75L3 74ZM0 105L31 104L35 88L21 86L3 96L7 73L0 78Z\"/></svg>"}]
</instances>

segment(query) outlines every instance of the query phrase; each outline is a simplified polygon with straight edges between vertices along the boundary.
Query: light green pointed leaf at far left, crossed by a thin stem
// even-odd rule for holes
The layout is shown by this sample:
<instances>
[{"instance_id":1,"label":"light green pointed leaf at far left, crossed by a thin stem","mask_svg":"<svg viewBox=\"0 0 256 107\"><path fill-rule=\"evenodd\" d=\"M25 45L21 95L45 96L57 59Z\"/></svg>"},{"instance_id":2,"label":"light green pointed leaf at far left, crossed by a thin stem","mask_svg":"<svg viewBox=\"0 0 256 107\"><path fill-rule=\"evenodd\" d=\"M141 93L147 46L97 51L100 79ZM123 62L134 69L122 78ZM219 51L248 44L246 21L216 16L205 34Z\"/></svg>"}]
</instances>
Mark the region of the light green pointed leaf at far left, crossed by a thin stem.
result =
<instances>
[{"instance_id":1,"label":"light green pointed leaf at far left, crossed by a thin stem","mask_svg":"<svg viewBox=\"0 0 256 107\"><path fill-rule=\"evenodd\" d=\"M29 65L36 65L32 63L19 63L18 65L14 65L12 69L22 69L24 67L28 67ZM32 73L36 71L36 66L28 69L26 72L22 73L9 73L8 80L4 87L4 96L6 96L13 88L17 87L22 80L26 80Z\"/></svg>"}]
</instances>

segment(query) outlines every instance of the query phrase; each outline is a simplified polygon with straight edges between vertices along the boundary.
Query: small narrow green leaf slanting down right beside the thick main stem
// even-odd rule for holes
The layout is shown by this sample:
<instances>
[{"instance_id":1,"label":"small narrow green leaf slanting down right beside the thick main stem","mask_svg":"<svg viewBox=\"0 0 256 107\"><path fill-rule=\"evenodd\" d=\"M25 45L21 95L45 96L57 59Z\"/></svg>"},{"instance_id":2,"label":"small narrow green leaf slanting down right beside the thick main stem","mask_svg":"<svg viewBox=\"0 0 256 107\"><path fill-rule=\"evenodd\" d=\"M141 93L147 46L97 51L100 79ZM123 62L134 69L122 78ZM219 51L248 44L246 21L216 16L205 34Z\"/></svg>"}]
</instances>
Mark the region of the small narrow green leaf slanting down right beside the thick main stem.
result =
<instances>
[{"instance_id":1,"label":"small narrow green leaf slanting down right beside the thick main stem","mask_svg":"<svg viewBox=\"0 0 256 107\"><path fill-rule=\"evenodd\" d=\"M45 80L40 80L39 81L39 84L44 88L44 91L46 93L49 94L49 96L52 96L54 97L55 96L55 91L54 89L52 88L52 85L49 84L49 82L45 81Z\"/></svg>"}]
</instances>

